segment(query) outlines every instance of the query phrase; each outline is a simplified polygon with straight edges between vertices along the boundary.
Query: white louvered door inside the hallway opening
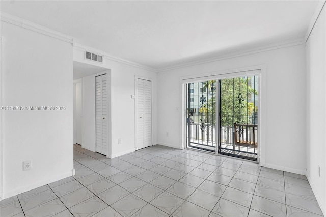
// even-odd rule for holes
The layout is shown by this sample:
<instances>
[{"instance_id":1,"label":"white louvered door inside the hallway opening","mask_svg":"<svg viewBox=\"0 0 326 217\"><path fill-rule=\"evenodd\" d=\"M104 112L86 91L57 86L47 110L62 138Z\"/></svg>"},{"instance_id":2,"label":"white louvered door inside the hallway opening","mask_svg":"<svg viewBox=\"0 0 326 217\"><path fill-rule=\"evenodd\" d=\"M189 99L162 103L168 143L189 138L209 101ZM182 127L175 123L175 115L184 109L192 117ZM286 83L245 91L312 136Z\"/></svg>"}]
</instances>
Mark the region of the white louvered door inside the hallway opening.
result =
<instances>
[{"instance_id":1,"label":"white louvered door inside the hallway opening","mask_svg":"<svg viewBox=\"0 0 326 217\"><path fill-rule=\"evenodd\" d=\"M106 155L107 91L106 74L95 77L96 142L95 151Z\"/></svg>"}]
</instances>

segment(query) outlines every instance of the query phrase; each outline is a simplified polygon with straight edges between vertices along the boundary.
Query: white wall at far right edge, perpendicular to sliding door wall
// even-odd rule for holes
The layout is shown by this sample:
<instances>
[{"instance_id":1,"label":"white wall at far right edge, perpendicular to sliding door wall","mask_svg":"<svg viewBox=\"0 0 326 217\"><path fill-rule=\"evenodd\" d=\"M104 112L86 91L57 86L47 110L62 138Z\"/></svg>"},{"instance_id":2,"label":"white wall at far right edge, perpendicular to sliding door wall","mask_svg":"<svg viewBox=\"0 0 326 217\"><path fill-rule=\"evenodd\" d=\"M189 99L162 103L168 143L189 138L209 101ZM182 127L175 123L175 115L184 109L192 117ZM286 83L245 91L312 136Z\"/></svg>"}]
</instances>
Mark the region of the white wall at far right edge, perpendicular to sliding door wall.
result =
<instances>
[{"instance_id":1,"label":"white wall at far right edge, perpendicular to sliding door wall","mask_svg":"<svg viewBox=\"0 0 326 217\"><path fill-rule=\"evenodd\" d=\"M326 215L326 12L323 8L307 47L307 177ZM320 176L318 175L320 166Z\"/></svg>"}]
</instances>

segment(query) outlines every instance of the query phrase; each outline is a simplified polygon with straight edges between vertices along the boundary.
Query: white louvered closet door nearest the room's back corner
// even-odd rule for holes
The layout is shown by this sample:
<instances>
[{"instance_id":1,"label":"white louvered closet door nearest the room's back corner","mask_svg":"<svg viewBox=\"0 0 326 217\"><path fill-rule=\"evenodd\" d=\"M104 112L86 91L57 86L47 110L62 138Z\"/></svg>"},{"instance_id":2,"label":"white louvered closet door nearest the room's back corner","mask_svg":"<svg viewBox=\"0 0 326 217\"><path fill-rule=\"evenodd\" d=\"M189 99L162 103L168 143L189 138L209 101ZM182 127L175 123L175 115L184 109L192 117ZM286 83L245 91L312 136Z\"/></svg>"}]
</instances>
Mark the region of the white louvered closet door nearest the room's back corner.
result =
<instances>
[{"instance_id":1,"label":"white louvered closet door nearest the room's back corner","mask_svg":"<svg viewBox=\"0 0 326 217\"><path fill-rule=\"evenodd\" d=\"M149 80L137 79L137 150L152 145L151 88Z\"/></svg>"}]
</instances>

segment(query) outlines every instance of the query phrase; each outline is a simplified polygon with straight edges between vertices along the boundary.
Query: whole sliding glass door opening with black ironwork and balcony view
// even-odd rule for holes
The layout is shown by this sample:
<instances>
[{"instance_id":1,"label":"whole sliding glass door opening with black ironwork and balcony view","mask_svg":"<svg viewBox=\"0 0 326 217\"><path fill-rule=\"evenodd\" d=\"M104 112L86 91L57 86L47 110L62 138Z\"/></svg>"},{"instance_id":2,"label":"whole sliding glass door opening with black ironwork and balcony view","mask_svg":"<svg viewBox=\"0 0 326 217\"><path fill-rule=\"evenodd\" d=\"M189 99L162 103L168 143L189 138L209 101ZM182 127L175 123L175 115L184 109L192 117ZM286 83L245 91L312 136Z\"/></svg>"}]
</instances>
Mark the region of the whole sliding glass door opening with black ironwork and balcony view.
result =
<instances>
[{"instance_id":1,"label":"whole sliding glass door opening with black ironwork and balcony view","mask_svg":"<svg viewBox=\"0 0 326 217\"><path fill-rule=\"evenodd\" d=\"M187 83L187 146L258 159L258 75Z\"/></svg>"}]
</instances>

